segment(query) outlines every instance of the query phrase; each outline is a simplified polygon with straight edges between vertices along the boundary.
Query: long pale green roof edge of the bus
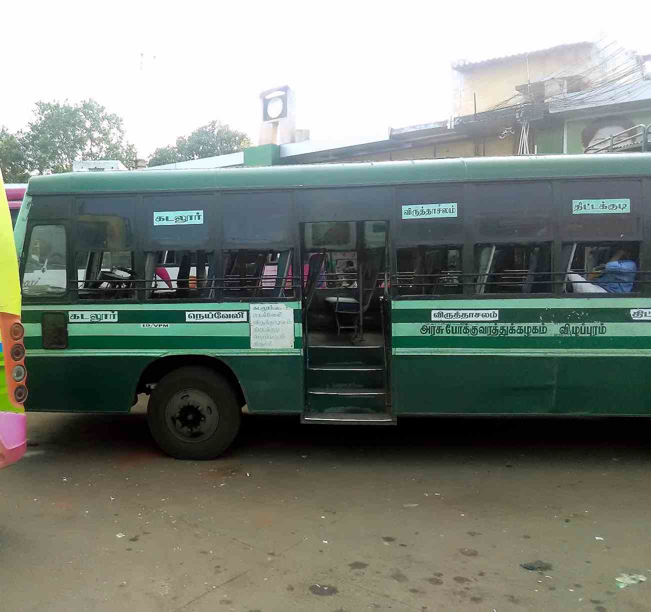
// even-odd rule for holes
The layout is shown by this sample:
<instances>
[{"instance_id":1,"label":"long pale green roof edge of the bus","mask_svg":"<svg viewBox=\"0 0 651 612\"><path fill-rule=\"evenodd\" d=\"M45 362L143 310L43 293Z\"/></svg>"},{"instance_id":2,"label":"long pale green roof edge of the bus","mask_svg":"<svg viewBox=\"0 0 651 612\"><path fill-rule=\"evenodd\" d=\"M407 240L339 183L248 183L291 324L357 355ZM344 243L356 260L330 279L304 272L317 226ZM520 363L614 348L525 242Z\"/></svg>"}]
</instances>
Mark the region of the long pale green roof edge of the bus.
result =
<instances>
[{"instance_id":1,"label":"long pale green roof edge of the bus","mask_svg":"<svg viewBox=\"0 0 651 612\"><path fill-rule=\"evenodd\" d=\"M27 193L72 194L209 189L288 189L534 178L651 176L651 153L613 155L528 155L469 157L347 164L158 170L152 172L70 172L34 176Z\"/></svg>"}]
</instances>

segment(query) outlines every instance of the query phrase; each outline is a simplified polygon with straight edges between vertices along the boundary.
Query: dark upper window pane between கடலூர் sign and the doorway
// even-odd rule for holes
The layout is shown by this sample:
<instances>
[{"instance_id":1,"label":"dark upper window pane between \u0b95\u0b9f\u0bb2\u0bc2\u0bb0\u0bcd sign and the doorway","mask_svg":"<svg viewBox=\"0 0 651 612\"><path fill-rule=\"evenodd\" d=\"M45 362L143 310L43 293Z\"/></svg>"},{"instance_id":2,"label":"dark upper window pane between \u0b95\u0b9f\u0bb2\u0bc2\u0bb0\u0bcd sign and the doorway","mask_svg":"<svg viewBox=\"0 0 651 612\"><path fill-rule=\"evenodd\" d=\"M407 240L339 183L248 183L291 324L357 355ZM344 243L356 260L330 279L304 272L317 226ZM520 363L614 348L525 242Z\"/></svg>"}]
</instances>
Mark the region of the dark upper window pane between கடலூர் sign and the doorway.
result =
<instances>
[{"instance_id":1,"label":"dark upper window pane between \u0b95\u0b9f\u0bb2\u0bc2\u0bb0\u0bcd sign and the doorway","mask_svg":"<svg viewBox=\"0 0 651 612\"><path fill-rule=\"evenodd\" d=\"M289 193L225 194L221 209L226 246L292 243Z\"/></svg>"}]
</instances>

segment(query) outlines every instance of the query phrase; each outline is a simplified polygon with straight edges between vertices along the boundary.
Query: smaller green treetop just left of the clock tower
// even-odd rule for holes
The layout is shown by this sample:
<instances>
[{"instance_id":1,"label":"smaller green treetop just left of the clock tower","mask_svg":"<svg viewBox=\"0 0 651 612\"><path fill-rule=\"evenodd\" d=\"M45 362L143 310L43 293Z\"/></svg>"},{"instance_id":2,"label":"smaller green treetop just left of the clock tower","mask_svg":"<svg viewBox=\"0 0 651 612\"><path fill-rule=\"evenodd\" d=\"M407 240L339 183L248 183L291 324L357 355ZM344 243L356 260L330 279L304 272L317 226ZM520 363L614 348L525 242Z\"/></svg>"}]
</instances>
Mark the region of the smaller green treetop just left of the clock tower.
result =
<instances>
[{"instance_id":1,"label":"smaller green treetop just left of the clock tower","mask_svg":"<svg viewBox=\"0 0 651 612\"><path fill-rule=\"evenodd\" d=\"M251 146L249 137L236 129L231 129L219 121L197 127L189 136L176 139L176 146L164 146L156 149L149 157L149 166L190 159L203 159L226 153L236 153Z\"/></svg>"}]
</instances>

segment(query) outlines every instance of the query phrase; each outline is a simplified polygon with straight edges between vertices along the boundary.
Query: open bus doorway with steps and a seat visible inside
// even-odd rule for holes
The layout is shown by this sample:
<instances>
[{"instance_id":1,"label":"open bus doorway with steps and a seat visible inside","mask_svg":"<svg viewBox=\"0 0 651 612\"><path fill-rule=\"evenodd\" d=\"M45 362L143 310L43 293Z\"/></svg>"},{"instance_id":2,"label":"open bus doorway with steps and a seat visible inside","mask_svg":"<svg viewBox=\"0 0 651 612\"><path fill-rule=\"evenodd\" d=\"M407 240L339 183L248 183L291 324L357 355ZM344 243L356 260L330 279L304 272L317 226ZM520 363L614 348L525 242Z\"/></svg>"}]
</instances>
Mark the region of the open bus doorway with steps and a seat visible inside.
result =
<instances>
[{"instance_id":1,"label":"open bus doorway with steps and a seat visible inside","mask_svg":"<svg viewBox=\"0 0 651 612\"><path fill-rule=\"evenodd\" d=\"M303 422L394 423L387 235L381 221L313 222L303 237Z\"/></svg>"}]
</instances>

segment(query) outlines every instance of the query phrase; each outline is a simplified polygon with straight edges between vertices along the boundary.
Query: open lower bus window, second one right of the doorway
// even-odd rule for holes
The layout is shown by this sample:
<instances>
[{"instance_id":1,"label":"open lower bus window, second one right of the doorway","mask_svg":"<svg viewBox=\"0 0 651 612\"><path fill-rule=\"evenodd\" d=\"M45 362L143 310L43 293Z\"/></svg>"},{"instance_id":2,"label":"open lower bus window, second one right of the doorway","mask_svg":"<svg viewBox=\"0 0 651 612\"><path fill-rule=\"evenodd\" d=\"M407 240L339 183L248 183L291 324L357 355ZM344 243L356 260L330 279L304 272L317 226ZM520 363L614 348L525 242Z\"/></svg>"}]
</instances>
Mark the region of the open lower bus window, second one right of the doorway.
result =
<instances>
[{"instance_id":1,"label":"open lower bus window, second one right of the doorway","mask_svg":"<svg viewBox=\"0 0 651 612\"><path fill-rule=\"evenodd\" d=\"M545 245L477 245L475 293L550 293L551 248Z\"/></svg>"}]
</instances>

